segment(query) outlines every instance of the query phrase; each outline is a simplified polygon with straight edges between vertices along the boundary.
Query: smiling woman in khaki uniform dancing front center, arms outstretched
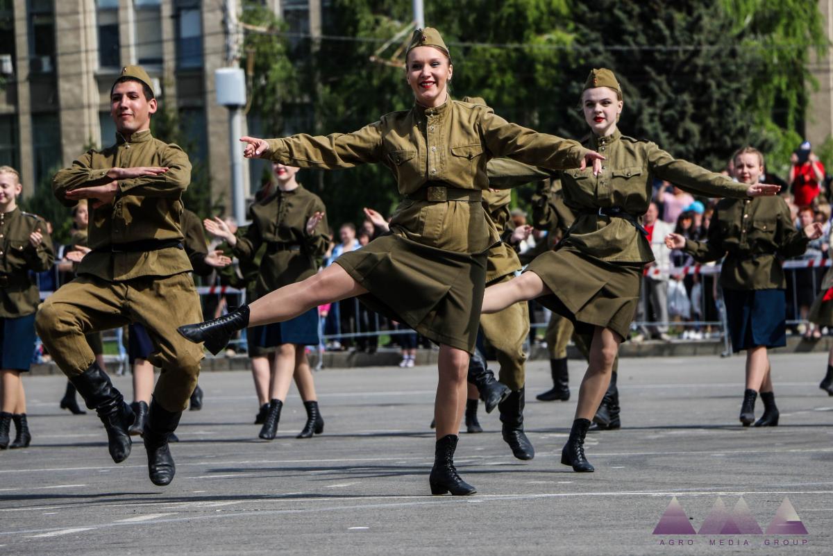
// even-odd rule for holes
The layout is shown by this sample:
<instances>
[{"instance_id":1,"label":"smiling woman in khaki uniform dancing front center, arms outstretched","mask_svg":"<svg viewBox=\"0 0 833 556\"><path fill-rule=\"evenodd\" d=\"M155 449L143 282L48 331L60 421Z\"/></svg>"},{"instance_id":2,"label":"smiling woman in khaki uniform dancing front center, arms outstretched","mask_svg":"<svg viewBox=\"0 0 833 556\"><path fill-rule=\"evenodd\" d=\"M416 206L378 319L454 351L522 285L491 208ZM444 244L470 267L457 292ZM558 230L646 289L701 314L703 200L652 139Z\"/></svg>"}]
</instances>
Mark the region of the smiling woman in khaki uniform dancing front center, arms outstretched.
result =
<instances>
[{"instance_id":1,"label":"smiling woman in khaki uniform dancing front center, arms outstretched","mask_svg":"<svg viewBox=\"0 0 833 556\"><path fill-rule=\"evenodd\" d=\"M243 137L244 155L292 166L347 168L381 163L405 196L391 233L340 256L336 264L286 285L225 317L182 326L188 339L220 350L233 330L289 320L317 305L363 295L440 345L436 390L433 494L473 494L456 473L453 455L466 402L466 372L474 349L486 279L486 251L499 237L481 205L489 187L486 162L510 156L553 170L601 167L601 156L560 137L506 122L489 107L452 101L451 57L439 32L414 32L405 78L412 109L392 112L358 132L327 137Z\"/></svg>"}]
</instances>

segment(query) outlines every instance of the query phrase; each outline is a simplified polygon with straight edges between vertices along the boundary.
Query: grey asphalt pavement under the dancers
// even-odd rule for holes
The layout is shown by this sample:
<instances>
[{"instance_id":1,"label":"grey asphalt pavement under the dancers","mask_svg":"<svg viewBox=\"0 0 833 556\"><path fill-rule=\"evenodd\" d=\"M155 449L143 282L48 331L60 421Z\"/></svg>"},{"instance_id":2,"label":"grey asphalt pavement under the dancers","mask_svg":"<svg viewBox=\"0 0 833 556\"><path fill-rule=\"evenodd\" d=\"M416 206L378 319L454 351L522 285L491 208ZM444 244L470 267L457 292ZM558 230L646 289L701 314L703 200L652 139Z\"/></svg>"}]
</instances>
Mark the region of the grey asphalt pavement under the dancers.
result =
<instances>
[{"instance_id":1,"label":"grey asphalt pavement under the dancers","mask_svg":"<svg viewBox=\"0 0 833 556\"><path fill-rule=\"evenodd\" d=\"M63 380L31 376L32 446L0 452L0 554L831 554L825 359L772 357L781 424L770 429L737 420L742 357L621 360L623 428L588 436L592 474L560 463L581 361L572 399L546 403L535 395L549 367L533 361L536 457L514 459L481 405L485 432L462 433L456 455L471 497L428 489L436 368L319 371L324 433L295 439L306 414L293 390L272 442L252 424L250 375L205 373L164 488L147 479L141 441L113 464L95 415L58 409ZM129 397L130 377L113 379ZM661 519L669 534L654 534Z\"/></svg>"}]
</instances>

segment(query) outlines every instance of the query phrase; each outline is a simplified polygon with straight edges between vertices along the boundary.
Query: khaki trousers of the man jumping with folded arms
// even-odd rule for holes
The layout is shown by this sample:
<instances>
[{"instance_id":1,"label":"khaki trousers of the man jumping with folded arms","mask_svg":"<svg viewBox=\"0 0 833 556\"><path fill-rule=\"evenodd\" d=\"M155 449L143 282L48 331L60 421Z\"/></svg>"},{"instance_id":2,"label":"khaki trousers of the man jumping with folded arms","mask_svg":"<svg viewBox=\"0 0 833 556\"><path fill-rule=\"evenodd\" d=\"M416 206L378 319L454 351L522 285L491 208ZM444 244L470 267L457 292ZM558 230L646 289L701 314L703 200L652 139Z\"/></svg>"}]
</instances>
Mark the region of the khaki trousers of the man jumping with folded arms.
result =
<instances>
[{"instance_id":1,"label":"khaki trousers of the man jumping with folded arms","mask_svg":"<svg viewBox=\"0 0 833 556\"><path fill-rule=\"evenodd\" d=\"M80 375L93 361L84 335L138 322L154 350L147 360L162 369L153 397L167 411L182 411L197 385L202 345L177 326L202 320L200 299L190 272L109 281L78 276L62 285L37 311L35 328L52 359L67 376Z\"/></svg>"}]
</instances>

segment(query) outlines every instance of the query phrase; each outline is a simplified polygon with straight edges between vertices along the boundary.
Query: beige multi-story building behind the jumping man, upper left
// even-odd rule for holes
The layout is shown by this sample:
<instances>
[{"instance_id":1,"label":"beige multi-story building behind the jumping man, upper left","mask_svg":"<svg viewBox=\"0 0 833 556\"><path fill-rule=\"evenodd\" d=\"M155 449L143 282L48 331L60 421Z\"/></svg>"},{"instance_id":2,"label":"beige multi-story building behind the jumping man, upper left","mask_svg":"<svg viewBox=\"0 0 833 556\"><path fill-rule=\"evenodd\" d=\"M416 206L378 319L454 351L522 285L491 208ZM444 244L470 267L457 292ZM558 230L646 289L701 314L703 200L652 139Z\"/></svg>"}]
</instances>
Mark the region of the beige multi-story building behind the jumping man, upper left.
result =
<instances>
[{"instance_id":1,"label":"beige multi-story building behind the jumping man, upper left","mask_svg":"<svg viewBox=\"0 0 833 556\"><path fill-rule=\"evenodd\" d=\"M292 31L316 34L321 2L263 1ZM84 146L112 144L110 87L122 67L141 64L159 101L177 107L212 196L229 199L228 114L214 90L214 71L227 65L227 4L0 0L0 164L19 169L24 195Z\"/></svg>"}]
</instances>

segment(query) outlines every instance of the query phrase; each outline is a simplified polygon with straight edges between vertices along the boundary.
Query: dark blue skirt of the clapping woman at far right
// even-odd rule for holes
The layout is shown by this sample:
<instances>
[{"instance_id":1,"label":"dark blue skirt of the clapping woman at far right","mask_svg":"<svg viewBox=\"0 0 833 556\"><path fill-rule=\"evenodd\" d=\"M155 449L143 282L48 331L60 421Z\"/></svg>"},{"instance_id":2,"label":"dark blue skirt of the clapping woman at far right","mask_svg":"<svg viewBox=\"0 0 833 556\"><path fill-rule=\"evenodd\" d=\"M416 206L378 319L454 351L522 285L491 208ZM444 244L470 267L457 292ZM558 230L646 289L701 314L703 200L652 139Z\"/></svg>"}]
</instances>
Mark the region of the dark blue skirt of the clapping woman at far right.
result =
<instances>
[{"instance_id":1,"label":"dark blue skirt of the clapping woman at far right","mask_svg":"<svg viewBox=\"0 0 833 556\"><path fill-rule=\"evenodd\" d=\"M723 290L732 351L786 345L784 290Z\"/></svg>"}]
</instances>

